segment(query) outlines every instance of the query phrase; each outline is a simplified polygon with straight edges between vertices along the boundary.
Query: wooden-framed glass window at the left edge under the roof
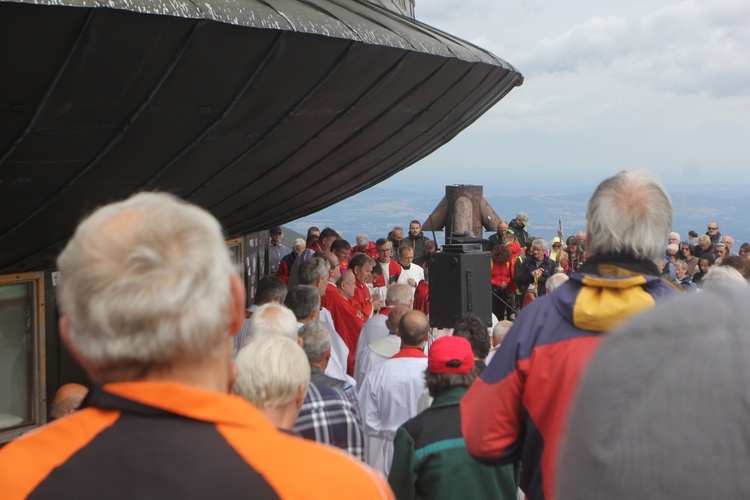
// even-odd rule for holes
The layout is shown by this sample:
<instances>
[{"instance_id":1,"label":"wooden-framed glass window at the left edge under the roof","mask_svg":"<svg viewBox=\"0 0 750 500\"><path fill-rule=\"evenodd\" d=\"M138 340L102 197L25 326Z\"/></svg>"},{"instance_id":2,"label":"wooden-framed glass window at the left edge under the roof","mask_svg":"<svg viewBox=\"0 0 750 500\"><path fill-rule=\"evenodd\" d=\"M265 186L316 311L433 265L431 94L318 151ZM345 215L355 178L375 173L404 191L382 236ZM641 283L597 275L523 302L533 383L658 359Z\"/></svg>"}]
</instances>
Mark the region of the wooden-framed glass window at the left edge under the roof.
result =
<instances>
[{"instance_id":1,"label":"wooden-framed glass window at the left edge under the roof","mask_svg":"<svg viewBox=\"0 0 750 500\"><path fill-rule=\"evenodd\" d=\"M0 276L0 442L45 420L43 278Z\"/></svg>"}]
</instances>

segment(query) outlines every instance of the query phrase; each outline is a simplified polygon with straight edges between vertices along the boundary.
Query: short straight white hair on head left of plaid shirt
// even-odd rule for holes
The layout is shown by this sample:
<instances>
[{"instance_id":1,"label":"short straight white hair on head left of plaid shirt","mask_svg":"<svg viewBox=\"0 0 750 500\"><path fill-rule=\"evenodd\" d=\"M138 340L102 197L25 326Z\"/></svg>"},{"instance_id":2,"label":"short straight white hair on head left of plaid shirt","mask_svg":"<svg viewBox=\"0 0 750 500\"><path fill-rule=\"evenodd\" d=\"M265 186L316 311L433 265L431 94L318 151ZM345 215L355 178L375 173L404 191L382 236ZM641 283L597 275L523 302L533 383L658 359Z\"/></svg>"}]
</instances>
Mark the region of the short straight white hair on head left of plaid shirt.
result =
<instances>
[{"instance_id":1,"label":"short straight white hair on head left of plaid shirt","mask_svg":"<svg viewBox=\"0 0 750 500\"><path fill-rule=\"evenodd\" d=\"M257 408L283 407L310 384L310 364L302 348L282 336L252 342L237 354L234 392Z\"/></svg>"}]
</instances>

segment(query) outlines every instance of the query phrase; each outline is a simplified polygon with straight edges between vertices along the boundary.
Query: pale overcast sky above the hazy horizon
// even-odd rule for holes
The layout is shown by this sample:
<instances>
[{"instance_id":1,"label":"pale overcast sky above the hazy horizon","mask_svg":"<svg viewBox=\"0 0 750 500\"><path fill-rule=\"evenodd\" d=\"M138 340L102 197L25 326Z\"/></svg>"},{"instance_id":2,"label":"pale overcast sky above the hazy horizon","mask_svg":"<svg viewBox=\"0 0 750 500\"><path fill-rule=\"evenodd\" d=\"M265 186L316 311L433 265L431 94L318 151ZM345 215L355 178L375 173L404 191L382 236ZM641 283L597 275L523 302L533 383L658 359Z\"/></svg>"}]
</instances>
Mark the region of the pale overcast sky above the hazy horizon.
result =
<instances>
[{"instance_id":1,"label":"pale overcast sky above the hazy horizon","mask_svg":"<svg viewBox=\"0 0 750 500\"><path fill-rule=\"evenodd\" d=\"M525 82L381 187L549 193L634 167L670 189L750 187L749 1L417 0L416 17Z\"/></svg>"}]
</instances>

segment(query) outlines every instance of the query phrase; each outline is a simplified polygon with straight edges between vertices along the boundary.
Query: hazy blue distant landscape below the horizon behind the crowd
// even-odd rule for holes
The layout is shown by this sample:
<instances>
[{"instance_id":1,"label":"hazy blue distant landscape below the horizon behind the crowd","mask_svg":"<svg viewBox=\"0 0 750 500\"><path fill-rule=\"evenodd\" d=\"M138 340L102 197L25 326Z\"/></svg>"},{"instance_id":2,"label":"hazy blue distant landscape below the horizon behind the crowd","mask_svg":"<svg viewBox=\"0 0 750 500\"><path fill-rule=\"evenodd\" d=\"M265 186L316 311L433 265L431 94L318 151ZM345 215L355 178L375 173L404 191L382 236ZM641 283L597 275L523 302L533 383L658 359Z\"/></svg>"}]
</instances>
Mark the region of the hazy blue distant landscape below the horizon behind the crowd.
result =
<instances>
[{"instance_id":1,"label":"hazy blue distant landscape below the horizon behind the crowd","mask_svg":"<svg viewBox=\"0 0 750 500\"><path fill-rule=\"evenodd\" d=\"M529 232L551 240L557 235L559 217L563 220L565 236L586 229L586 204L594 189L595 186L591 186L588 190L573 188L552 193L485 186L484 197L502 218L510 220L517 212L526 212L530 219ZM687 238L689 230L703 234L708 222L717 221L722 234L734 237L735 251L742 242L750 241L750 221L746 216L750 195L744 186L688 186L669 191L674 205L673 230L683 239ZM394 226L408 229L412 219L424 222L444 195L444 190L437 189L420 192L374 187L286 227L305 234L309 226L321 229L330 226L351 243L359 233L367 234L374 241ZM428 236L432 239L432 234ZM443 244L443 233L438 232L436 236L439 244Z\"/></svg>"}]
</instances>

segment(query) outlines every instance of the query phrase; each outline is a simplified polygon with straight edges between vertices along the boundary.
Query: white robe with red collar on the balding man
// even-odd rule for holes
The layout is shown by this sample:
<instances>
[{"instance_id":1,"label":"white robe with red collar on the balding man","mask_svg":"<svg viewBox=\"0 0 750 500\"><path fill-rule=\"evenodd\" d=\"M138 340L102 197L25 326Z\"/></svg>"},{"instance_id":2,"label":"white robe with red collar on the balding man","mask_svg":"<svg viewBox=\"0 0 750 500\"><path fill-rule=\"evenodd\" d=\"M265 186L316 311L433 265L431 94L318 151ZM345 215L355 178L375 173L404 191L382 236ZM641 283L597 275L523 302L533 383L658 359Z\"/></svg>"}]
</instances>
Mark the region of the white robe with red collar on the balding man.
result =
<instances>
[{"instance_id":1,"label":"white robe with red collar on the balding man","mask_svg":"<svg viewBox=\"0 0 750 500\"><path fill-rule=\"evenodd\" d=\"M359 391L365 428L365 461L388 477L393 439L407 420L417 415L425 389L427 358L391 358L373 370Z\"/></svg>"}]
</instances>

